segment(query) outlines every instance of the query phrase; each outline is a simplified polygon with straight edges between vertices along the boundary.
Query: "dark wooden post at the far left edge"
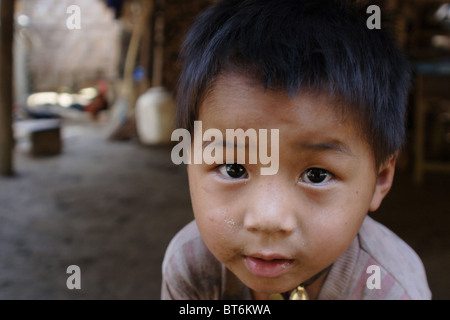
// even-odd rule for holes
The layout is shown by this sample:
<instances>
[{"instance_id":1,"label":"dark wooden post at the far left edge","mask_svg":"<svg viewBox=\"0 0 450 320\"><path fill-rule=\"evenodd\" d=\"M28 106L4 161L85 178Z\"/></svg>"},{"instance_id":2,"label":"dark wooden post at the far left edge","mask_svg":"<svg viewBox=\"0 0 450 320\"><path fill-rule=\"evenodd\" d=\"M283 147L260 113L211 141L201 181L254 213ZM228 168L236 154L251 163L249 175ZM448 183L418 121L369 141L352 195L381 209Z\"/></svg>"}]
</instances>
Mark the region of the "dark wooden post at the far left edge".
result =
<instances>
[{"instance_id":1,"label":"dark wooden post at the far left edge","mask_svg":"<svg viewBox=\"0 0 450 320\"><path fill-rule=\"evenodd\" d=\"M13 169L13 33L14 0L0 0L0 174Z\"/></svg>"}]
</instances>

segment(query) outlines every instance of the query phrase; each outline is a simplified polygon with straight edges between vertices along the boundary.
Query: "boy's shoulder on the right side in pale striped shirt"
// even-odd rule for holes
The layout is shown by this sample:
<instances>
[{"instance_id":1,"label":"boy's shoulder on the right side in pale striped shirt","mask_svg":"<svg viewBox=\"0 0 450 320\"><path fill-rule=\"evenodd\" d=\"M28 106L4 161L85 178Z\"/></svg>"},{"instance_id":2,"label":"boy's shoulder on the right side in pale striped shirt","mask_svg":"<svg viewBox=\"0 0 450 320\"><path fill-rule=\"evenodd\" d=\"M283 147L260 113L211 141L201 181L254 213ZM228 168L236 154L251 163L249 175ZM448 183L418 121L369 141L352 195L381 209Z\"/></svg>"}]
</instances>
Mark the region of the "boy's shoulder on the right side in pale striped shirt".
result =
<instances>
[{"instance_id":1,"label":"boy's shoulder on the right side in pale striped shirt","mask_svg":"<svg viewBox=\"0 0 450 320\"><path fill-rule=\"evenodd\" d=\"M353 242L334 262L319 299L428 300L431 292L414 250L367 216Z\"/></svg>"}]
</instances>

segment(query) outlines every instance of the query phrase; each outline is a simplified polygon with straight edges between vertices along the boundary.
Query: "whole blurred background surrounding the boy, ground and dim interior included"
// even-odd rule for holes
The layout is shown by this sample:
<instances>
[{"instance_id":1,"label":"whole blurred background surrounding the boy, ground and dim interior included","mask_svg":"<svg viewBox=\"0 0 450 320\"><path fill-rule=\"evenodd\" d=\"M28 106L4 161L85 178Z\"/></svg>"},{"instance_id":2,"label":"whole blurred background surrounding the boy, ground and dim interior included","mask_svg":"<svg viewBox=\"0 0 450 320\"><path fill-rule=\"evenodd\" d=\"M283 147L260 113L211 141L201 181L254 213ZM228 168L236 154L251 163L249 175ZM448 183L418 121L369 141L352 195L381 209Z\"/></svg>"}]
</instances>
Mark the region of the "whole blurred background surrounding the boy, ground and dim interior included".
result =
<instances>
[{"instance_id":1,"label":"whole blurred background surrounding the boy, ground and dim interior included","mask_svg":"<svg viewBox=\"0 0 450 320\"><path fill-rule=\"evenodd\" d=\"M193 218L170 158L177 57L212 2L0 1L0 299L159 299L166 246ZM450 2L371 4L414 66L407 144L372 217L450 299Z\"/></svg>"}]
</instances>

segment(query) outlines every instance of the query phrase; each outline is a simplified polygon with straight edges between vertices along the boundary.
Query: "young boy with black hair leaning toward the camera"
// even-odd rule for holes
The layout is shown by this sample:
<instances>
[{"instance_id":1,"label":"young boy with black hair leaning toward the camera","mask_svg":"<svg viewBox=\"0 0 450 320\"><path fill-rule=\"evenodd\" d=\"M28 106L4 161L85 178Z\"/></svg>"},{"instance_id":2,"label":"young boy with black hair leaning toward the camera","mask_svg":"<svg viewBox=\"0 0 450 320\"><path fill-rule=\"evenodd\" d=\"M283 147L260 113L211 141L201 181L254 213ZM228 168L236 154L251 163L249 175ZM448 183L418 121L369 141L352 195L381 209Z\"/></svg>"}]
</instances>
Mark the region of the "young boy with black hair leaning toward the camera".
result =
<instances>
[{"instance_id":1,"label":"young boy with black hair leaning toward the camera","mask_svg":"<svg viewBox=\"0 0 450 320\"><path fill-rule=\"evenodd\" d=\"M271 175L249 157L188 164L195 221L166 251L162 299L431 298L416 253L367 216L393 181L410 73L366 10L225 0L198 18L179 127L278 130L279 163Z\"/></svg>"}]
</instances>

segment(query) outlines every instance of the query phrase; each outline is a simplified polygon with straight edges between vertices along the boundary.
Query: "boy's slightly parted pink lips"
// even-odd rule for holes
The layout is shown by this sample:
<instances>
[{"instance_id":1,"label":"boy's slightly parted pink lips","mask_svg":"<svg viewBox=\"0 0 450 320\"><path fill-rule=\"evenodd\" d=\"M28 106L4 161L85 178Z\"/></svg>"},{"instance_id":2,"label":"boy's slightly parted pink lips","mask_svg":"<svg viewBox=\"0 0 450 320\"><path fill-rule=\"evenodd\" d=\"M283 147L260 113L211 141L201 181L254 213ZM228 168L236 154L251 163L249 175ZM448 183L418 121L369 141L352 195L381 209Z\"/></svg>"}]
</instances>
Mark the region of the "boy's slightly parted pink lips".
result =
<instances>
[{"instance_id":1,"label":"boy's slightly parted pink lips","mask_svg":"<svg viewBox=\"0 0 450 320\"><path fill-rule=\"evenodd\" d=\"M275 278L287 272L294 260L282 256L244 256L247 269L255 276Z\"/></svg>"}]
</instances>

